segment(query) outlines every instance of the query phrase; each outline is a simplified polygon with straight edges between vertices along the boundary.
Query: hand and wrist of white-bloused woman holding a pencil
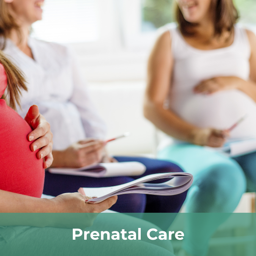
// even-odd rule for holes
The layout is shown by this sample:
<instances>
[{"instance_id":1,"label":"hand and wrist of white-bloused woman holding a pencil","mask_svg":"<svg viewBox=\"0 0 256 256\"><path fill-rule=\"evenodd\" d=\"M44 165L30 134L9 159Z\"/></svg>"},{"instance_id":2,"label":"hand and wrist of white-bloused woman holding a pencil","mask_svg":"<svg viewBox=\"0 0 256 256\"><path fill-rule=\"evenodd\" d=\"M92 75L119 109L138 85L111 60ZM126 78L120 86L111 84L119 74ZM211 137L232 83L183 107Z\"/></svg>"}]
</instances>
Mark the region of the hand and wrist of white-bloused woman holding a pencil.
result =
<instances>
[{"instance_id":1,"label":"hand and wrist of white-bloused woman holding a pencil","mask_svg":"<svg viewBox=\"0 0 256 256\"><path fill-rule=\"evenodd\" d=\"M105 142L87 139L72 144L63 151L53 151L53 167L80 168L101 162Z\"/></svg>"}]
</instances>

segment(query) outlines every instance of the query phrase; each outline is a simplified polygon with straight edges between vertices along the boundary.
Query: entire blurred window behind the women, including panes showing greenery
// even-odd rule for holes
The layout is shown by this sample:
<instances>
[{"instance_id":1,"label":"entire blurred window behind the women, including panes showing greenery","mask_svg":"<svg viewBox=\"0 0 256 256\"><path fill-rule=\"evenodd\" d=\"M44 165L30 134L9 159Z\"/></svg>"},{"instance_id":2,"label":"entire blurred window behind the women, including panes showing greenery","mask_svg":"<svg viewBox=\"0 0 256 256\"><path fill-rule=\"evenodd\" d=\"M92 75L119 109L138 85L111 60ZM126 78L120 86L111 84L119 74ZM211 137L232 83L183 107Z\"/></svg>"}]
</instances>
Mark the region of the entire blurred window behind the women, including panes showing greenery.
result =
<instances>
[{"instance_id":1,"label":"entire blurred window behind the women, including panes showing greenery","mask_svg":"<svg viewBox=\"0 0 256 256\"><path fill-rule=\"evenodd\" d=\"M60 43L82 43L91 52L148 50L156 30L174 21L175 0L45 0L43 20L32 36ZM256 31L256 0L234 0L240 22ZM85 44L84 44L85 43Z\"/></svg>"}]
</instances>

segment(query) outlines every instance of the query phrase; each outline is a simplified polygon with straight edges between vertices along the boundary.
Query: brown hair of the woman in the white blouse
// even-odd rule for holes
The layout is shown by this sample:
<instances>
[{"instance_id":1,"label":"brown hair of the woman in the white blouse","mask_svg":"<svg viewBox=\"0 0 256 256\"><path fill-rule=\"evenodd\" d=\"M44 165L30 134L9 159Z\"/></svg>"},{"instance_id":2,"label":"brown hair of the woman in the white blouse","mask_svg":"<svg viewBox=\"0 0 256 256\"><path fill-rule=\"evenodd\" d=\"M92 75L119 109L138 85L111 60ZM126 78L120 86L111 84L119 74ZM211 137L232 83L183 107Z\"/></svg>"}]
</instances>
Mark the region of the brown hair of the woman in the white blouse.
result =
<instances>
[{"instance_id":1,"label":"brown hair of the woman in the white blouse","mask_svg":"<svg viewBox=\"0 0 256 256\"><path fill-rule=\"evenodd\" d=\"M7 3L4 0L0 0L0 36L3 37L3 40L0 41L0 50L5 49L6 38L13 29L17 31L21 41L19 26L16 24L14 17L9 13Z\"/></svg>"}]
</instances>

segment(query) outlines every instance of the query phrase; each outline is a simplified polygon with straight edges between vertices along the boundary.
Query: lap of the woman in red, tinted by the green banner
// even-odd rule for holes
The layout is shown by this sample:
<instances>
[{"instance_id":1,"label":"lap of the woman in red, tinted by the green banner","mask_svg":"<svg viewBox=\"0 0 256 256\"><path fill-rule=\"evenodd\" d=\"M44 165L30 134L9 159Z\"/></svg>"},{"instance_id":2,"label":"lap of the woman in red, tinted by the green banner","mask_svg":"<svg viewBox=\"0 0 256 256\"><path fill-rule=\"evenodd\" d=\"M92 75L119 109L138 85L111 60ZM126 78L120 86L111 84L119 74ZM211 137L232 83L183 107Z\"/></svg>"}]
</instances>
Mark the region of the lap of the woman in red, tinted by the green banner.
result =
<instances>
[{"instance_id":1,"label":"lap of the woman in red, tinted by the green banner","mask_svg":"<svg viewBox=\"0 0 256 256\"><path fill-rule=\"evenodd\" d=\"M138 227L145 234L148 229L157 228L147 221L123 214L100 214L93 226L86 228L86 231L136 231ZM111 256L173 256L173 248L168 240L151 241L145 234L141 232L141 240L84 240L83 236L72 240L72 229L31 227L8 243L5 240L0 241L0 251L1 254L8 256L72 256L81 253L86 256L100 256L107 255L107 252Z\"/></svg>"}]
</instances>

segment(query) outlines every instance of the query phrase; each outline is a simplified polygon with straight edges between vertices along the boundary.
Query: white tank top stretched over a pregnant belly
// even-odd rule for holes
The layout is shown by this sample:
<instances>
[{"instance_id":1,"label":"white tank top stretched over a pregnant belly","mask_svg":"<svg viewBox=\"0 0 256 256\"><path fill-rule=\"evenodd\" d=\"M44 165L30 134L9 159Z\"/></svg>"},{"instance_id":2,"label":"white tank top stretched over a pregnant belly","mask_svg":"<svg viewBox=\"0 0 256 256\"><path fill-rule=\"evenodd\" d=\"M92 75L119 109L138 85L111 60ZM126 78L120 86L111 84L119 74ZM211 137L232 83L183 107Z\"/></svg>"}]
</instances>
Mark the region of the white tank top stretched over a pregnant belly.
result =
<instances>
[{"instance_id":1,"label":"white tank top stretched over a pregnant belly","mask_svg":"<svg viewBox=\"0 0 256 256\"><path fill-rule=\"evenodd\" d=\"M177 28L170 30L174 57L173 83L168 107L185 121L198 127L227 129L243 115L248 117L231 132L231 139L256 138L256 103L239 90L212 95L193 93L202 80L236 76L248 80L250 43L243 28L235 26L231 46L199 50L190 46Z\"/></svg>"}]
</instances>

